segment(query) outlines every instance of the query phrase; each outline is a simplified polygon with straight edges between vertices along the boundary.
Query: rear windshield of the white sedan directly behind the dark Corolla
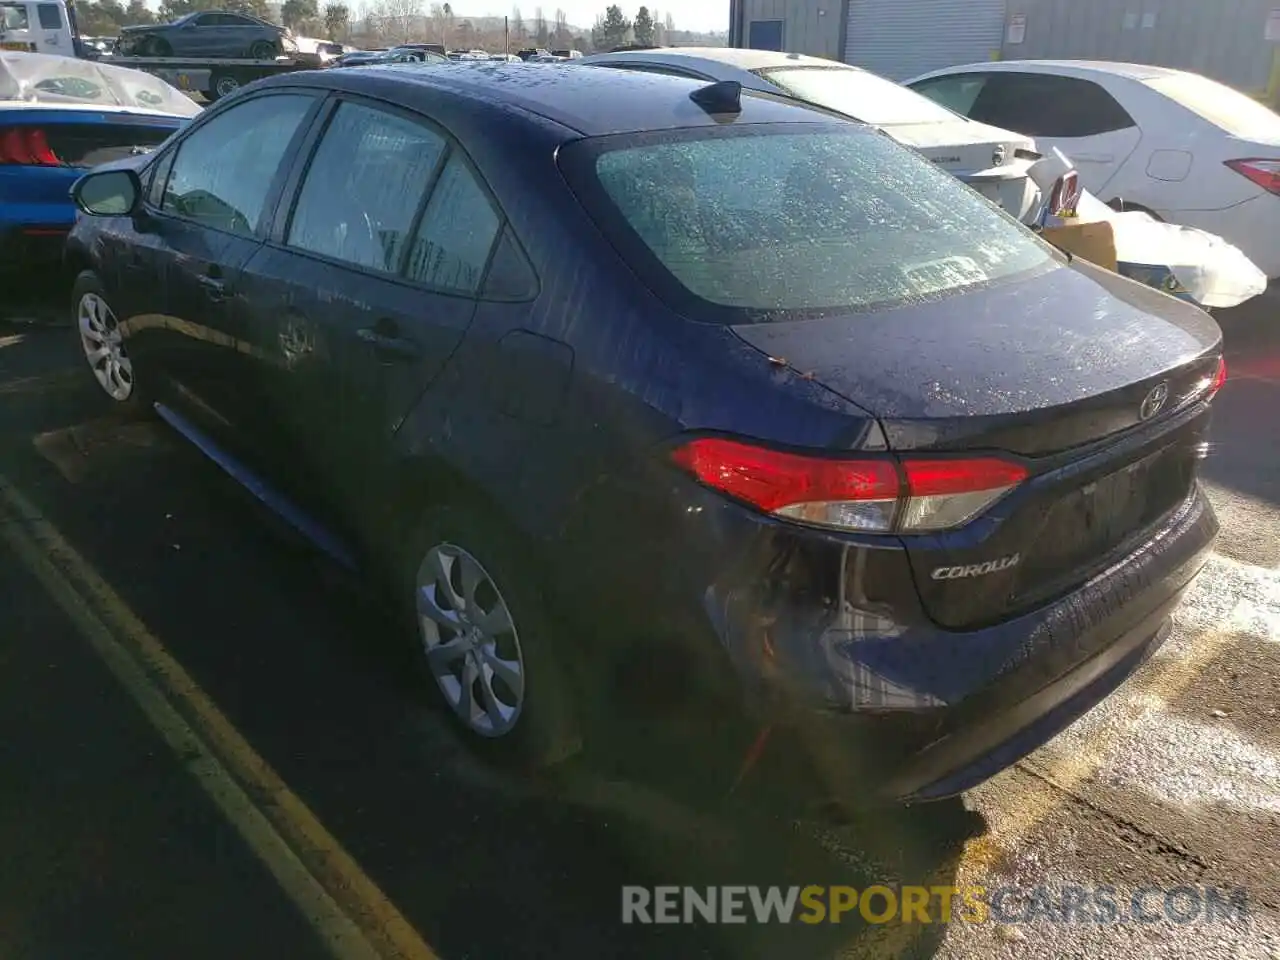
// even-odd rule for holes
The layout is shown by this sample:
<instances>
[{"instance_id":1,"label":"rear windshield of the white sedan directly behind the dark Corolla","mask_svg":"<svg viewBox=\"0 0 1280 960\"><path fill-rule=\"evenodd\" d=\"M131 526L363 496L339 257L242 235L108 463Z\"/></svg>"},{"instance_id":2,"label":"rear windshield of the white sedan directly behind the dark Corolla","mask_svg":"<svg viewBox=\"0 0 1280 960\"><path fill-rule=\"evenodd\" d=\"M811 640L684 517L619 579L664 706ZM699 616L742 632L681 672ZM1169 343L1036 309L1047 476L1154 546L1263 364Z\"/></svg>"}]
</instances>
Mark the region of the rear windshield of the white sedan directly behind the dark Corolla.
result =
<instances>
[{"instance_id":1,"label":"rear windshield of the white sedan directly behind the dark Corolla","mask_svg":"<svg viewBox=\"0 0 1280 960\"><path fill-rule=\"evenodd\" d=\"M851 67L780 67L758 73L794 97L877 127L960 119L914 90Z\"/></svg>"}]
</instances>

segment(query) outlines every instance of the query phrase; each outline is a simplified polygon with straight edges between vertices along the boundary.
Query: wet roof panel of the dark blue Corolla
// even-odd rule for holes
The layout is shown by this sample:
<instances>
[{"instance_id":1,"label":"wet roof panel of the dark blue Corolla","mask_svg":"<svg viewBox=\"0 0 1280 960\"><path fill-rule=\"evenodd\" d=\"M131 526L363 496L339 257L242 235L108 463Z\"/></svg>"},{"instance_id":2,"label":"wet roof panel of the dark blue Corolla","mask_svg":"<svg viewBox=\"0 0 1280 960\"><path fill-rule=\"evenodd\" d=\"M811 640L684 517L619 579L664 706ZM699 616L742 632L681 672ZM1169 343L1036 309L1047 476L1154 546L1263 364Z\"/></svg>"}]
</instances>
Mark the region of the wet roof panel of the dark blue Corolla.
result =
<instances>
[{"instance_id":1,"label":"wet roof panel of the dark blue Corolla","mask_svg":"<svg viewBox=\"0 0 1280 960\"><path fill-rule=\"evenodd\" d=\"M567 61L352 67L287 73L261 86L323 86L399 100L406 106L444 93L466 101L476 122L490 110L509 115L518 109L588 137L724 123L723 115L713 118L690 100L690 93L707 86L700 81L640 70L588 69ZM744 92L741 104L741 114L732 120L737 124L838 123L829 114L768 93Z\"/></svg>"}]
</instances>

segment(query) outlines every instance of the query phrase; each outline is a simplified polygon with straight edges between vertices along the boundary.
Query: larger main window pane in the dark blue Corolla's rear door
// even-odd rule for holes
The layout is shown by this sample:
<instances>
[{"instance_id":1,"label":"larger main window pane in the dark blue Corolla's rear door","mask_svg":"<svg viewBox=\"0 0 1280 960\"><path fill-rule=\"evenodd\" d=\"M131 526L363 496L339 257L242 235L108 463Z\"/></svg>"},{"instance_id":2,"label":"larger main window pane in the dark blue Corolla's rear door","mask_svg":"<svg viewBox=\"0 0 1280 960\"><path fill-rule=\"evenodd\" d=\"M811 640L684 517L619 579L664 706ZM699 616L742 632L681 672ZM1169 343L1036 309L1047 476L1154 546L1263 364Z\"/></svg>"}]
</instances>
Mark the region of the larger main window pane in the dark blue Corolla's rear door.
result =
<instances>
[{"instance_id":1,"label":"larger main window pane in the dark blue Corolla's rear door","mask_svg":"<svg viewBox=\"0 0 1280 960\"><path fill-rule=\"evenodd\" d=\"M342 104L307 168L288 244L398 273L444 148L444 138L421 123Z\"/></svg>"}]
</instances>

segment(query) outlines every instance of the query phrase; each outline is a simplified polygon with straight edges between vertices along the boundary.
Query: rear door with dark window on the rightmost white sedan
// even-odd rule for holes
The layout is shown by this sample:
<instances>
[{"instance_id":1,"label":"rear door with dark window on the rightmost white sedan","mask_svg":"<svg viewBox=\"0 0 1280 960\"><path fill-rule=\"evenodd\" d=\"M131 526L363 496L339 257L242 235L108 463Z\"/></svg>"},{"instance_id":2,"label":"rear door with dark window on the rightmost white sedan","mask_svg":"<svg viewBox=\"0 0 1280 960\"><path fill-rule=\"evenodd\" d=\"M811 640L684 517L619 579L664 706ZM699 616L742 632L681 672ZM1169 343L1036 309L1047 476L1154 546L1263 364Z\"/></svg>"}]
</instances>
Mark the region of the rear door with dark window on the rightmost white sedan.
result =
<instances>
[{"instance_id":1,"label":"rear door with dark window on the rightmost white sedan","mask_svg":"<svg viewBox=\"0 0 1280 960\"><path fill-rule=\"evenodd\" d=\"M1044 151L1057 147L1102 196L1142 140L1137 123L1093 81L1048 73L992 73L968 113L993 127L1025 133Z\"/></svg>"}]
</instances>

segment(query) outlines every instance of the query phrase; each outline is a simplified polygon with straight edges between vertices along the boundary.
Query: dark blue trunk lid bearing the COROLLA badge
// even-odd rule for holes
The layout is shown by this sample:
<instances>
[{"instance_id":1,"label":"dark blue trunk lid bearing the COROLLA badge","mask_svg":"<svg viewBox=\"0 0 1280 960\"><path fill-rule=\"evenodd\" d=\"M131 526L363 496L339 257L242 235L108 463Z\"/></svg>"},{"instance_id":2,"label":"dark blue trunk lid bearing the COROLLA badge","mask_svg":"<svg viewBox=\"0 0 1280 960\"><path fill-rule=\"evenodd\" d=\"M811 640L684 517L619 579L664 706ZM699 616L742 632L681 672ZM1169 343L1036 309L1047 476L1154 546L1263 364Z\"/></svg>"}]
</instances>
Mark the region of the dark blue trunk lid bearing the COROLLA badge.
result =
<instances>
[{"instance_id":1,"label":"dark blue trunk lid bearing the COROLLA badge","mask_svg":"<svg viewBox=\"0 0 1280 960\"><path fill-rule=\"evenodd\" d=\"M942 626L1083 582L1189 494L1217 371L1207 315L1092 266L891 310L735 328L876 415L901 457L1004 456L1029 477L956 530L905 534Z\"/></svg>"}]
</instances>

